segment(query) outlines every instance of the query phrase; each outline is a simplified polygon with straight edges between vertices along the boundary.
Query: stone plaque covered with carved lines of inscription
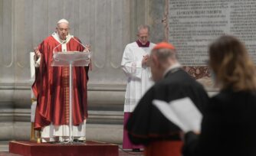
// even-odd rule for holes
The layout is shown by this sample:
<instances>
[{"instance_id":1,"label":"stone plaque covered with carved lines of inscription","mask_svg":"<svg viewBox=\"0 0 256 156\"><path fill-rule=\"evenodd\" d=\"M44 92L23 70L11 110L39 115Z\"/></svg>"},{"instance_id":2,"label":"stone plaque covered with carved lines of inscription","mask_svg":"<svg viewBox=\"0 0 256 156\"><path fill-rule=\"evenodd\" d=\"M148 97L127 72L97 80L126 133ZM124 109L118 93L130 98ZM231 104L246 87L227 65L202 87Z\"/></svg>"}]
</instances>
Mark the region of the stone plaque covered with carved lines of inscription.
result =
<instances>
[{"instance_id":1,"label":"stone plaque covered with carved lines of inscription","mask_svg":"<svg viewBox=\"0 0 256 156\"><path fill-rule=\"evenodd\" d=\"M169 42L183 65L207 65L208 44L222 34L245 42L256 62L256 1L169 0Z\"/></svg>"}]
</instances>

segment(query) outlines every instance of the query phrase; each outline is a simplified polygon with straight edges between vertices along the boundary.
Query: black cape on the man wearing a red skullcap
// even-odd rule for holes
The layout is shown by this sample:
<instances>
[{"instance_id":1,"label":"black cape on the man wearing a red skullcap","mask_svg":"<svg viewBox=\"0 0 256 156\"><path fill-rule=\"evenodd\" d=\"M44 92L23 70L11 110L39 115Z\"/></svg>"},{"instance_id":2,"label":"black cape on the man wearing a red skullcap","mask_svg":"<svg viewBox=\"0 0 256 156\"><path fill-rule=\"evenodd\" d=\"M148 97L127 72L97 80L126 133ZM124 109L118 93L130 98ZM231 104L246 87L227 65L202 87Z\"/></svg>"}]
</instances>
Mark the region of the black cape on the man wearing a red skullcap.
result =
<instances>
[{"instance_id":1,"label":"black cape on the man wearing a red skullcap","mask_svg":"<svg viewBox=\"0 0 256 156\"><path fill-rule=\"evenodd\" d=\"M189 97L202 111L208 95L203 86L180 68L169 73L151 87L140 99L127 122L126 128L134 144L147 145L150 141L180 140L178 126L170 122L156 106L153 99L170 102L174 99Z\"/></svg>"}]
</instances>

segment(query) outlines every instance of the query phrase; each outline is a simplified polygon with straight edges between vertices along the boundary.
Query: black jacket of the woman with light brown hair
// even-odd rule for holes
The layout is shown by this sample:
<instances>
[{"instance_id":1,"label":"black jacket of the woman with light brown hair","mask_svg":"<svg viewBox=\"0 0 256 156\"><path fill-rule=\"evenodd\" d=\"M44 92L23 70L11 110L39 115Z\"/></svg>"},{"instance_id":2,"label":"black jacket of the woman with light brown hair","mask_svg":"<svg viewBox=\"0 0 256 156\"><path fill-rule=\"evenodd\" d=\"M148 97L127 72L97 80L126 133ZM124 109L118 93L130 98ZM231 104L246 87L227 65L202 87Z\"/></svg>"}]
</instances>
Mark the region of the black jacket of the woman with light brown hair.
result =
<instances>
[{"instance_id":1,"label":"black jacket of the woman with light brown hair","mask_svg":"<svg viewBox=\"0 0 256 156\"><path fill-rule=\"evenodd\" d=\"M221 91L210 99L202 132L185 135L184 156L255 156L256 93Z\"/></svg>"}]
</instances>

